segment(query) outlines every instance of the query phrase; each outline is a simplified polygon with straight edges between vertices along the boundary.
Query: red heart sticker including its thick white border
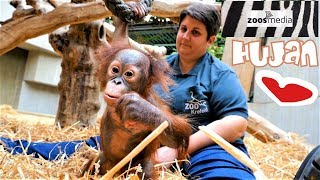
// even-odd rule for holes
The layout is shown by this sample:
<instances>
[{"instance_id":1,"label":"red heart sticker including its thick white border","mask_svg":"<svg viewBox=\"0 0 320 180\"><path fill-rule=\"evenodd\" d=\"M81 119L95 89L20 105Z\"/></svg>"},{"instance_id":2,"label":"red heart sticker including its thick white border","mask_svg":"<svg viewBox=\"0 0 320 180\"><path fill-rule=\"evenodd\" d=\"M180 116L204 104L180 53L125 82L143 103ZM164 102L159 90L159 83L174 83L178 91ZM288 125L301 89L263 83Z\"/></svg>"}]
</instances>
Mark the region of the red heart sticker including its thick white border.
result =
<instances>
[{"instance_id":1,"label":"red heart sticker including its thick white border","mask_svg":"<svg viewBox=\"0 0 320 180\"><path fill-rule=\"evenodd\" d=\"M318 97L318 90L313 84L297 78L283 78L269 70L259 71L256 83L280 106L307 105Z\"/></svg>"}]
</instances>

